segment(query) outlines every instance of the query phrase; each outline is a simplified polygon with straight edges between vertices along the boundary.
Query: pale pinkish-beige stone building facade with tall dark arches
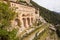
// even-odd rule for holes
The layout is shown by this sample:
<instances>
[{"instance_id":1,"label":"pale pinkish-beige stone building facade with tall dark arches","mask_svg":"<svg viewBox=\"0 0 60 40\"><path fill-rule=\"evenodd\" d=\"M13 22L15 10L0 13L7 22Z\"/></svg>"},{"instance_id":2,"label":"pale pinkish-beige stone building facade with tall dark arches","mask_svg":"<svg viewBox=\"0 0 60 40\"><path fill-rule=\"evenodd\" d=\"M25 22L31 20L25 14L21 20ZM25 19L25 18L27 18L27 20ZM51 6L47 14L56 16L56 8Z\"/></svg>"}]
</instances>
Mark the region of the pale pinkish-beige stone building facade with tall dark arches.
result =
<instances>
[{"instance_id":1,"label":"pale pinkish-beige stone building facade with tall dark arches","mask_svg":"<svg viewBox=\"0 0 60 40\"><path fill-rule=\"evenodd\" d=\"M31 0L24 0L26 3L18 3L17 0L10 0L11 7L16 8L15 11L18 13L17 18L15 21L12 21L12 26L16 26L18 23L21 23L21 27L28 28L32 26L32 23L39 18L39 9L35 8L30 1Z\"/></svg>"}]
</instances>

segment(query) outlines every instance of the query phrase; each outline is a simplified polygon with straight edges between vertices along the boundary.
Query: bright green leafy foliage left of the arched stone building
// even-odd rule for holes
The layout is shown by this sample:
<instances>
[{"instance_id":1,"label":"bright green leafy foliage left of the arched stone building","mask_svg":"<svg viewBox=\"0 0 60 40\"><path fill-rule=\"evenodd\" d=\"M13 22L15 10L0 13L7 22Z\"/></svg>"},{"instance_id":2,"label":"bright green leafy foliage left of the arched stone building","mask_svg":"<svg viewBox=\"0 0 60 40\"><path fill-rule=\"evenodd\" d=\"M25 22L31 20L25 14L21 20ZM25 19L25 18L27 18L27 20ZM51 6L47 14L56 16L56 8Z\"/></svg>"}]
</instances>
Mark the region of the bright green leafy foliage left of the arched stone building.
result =
<instances>
[{"instance_id":1,"label":"bright green leafy foliage left of the arched stone building","mask_svg":"<svg viewBox=\"0 0 60 40\"><path fill-rule=\"evenodd\" d=\"M15 38L17 30L7 31L11 26L11 20L16 17L16 13L9 7L9 3L0 2L0 40L17 40Z\"/></svg>"}]
</instances>

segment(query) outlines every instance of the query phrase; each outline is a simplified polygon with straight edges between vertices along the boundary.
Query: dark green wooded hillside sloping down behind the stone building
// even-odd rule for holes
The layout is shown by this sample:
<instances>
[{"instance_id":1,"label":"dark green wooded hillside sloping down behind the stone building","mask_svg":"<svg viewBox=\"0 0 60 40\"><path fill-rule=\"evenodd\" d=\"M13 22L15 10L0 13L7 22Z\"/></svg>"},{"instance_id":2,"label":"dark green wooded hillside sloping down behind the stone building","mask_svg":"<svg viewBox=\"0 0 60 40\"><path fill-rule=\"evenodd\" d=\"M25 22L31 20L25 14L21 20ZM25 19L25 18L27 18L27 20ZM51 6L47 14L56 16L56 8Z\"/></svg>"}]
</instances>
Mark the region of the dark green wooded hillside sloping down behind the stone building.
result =
<instances>
[{"instance_id":1,"label":"dark green wooded hillside sloping down behind the stone building","mask_svg":"<svg viewBox=\"0 0 60 40\"><path fill-rule=\"evenodd\" d=\"M35 6L36 9L39 8L40 16L42 16L46 22L55 26L56 32L60 37L60 14L41 7L33 1L31 1L31 3Z\"/></svg>"}]
</instances>

